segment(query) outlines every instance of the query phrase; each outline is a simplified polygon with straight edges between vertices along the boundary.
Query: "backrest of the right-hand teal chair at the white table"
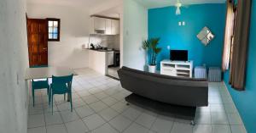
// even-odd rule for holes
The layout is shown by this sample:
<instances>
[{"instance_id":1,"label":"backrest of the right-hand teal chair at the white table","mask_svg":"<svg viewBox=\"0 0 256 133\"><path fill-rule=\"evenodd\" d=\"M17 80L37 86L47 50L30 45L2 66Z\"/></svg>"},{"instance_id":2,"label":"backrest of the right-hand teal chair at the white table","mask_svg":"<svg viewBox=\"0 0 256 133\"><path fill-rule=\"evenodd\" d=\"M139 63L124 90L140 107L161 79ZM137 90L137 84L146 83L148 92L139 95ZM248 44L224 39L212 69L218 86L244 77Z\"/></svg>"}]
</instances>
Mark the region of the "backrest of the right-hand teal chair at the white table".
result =
<instances>
[{"instance_id":1,"label":"backrest of the right-hand teal chair at the white table","mask_svg":"<svg viewBox=\"0 0 256 133\"><path fill-rule=\"evenodd\" d=\"M67 87L70 89L72 86L73 74L65 76L54 76L52 75L52 83L54 84L67 84Z\"/></svg>"}]
</instances>

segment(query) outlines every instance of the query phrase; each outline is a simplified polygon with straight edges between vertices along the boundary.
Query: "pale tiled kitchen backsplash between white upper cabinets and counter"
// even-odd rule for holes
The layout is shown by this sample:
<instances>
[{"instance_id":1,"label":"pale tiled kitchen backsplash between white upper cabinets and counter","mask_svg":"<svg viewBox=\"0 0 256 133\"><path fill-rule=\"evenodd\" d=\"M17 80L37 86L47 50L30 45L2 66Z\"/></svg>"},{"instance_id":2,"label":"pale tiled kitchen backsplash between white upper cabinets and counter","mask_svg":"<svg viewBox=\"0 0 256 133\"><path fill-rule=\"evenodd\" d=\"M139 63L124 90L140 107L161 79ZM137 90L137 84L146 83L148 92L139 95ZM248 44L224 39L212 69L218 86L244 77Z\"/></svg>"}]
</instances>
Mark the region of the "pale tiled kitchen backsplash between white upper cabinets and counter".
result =
<instances>
[{"instance_id":1,"label":"pale tiled kitchen backsplash between white upper cabinets and counter","mask_svg":"<svg viewBox=\"0 0 256 133\"><path fill-rule=\"evenodd\" d=\"M120 49L120 36L119 35L90 35L90 43L97 45L100 44L102 47Z\"/></svg>"}]
</instances>

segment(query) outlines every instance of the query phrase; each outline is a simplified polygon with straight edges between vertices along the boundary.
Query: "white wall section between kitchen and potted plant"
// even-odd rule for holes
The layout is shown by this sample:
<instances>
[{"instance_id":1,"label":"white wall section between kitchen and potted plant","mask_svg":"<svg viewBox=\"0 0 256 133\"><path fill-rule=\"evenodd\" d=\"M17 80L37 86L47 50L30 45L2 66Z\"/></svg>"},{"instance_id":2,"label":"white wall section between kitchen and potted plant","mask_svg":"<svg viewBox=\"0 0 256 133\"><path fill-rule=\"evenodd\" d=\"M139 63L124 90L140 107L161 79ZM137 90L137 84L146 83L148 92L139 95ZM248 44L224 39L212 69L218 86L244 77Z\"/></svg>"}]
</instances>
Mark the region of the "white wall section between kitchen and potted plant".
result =
<instances>
[{"instance_id":1,"label":"white wall section between kitchen and potted plant","mask_svg":"<svg viewBox=\"0 0 256 133\"><path fill-rule=\"evenodd\" d=\"M123 65L144 69L145 55L141 48L148 38L148 9L134 0L124 0Z\"/></svg>"}]
</instances>

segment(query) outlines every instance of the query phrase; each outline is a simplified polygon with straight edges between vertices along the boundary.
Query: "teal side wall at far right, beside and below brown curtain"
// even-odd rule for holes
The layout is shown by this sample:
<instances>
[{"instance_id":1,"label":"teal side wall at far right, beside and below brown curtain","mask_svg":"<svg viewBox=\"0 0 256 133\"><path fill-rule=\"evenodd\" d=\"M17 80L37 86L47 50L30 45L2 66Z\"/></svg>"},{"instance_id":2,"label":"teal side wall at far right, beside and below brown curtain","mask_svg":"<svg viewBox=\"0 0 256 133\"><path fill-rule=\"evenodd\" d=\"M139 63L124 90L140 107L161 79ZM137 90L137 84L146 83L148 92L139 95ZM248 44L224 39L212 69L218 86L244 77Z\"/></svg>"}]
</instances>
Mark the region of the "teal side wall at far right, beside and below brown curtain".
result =
<instances>
[{"instance_id":1,"label":"teal side wall at far right, beside and below brown curtain","mask_svg":"<svg viewBox=\"0 0 256 133\"><path fill-rule=\"evenodd\" d=\"M251 30L247 58L246 91L235 91L229 85L230 72L224 73L224 81L228 86L236 108L241 115L248 133L256 132L256 2L253 1Z\"/></svg>"}]
</instances>

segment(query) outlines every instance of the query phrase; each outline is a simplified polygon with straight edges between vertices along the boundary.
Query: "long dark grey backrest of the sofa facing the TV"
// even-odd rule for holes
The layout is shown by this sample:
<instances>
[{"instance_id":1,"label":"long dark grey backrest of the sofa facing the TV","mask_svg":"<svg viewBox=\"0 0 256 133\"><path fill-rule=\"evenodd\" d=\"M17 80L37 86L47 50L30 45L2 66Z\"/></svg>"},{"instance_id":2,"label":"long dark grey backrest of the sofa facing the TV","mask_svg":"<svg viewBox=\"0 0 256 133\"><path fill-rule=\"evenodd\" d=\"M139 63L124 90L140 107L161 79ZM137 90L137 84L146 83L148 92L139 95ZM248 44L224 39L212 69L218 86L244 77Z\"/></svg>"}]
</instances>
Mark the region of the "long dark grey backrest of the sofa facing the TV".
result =
<instances>
[{"instance_id":1,"label":"long dark grey backrest of the sofa facing the TV","mask_svg":"<svg viewBox=\"0 0 256 133\"><path fill-rule=\"evenodd\" d=\"M149 99L152 101L148 102L148 105L151 106L154 102L155 108L164 108L158 105L162 103L165 106L177 105L184 109L191 107L193 115L196 107L208 105L207 79L172 77L127 67L119 69L118 74L121 86L135 94L136 96L130 97L139 99L135 101L141 101L142 105ZM169 110L173 111L173 108Z\"/></svg>"}]
</instances>

